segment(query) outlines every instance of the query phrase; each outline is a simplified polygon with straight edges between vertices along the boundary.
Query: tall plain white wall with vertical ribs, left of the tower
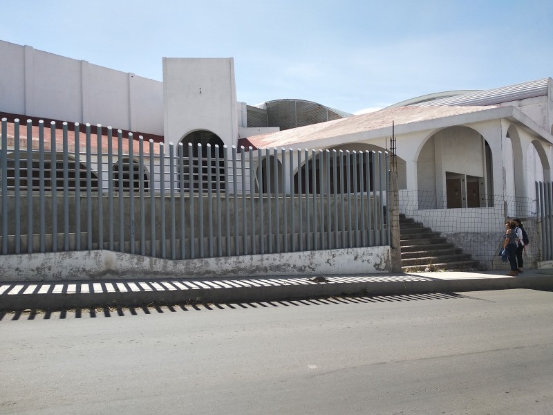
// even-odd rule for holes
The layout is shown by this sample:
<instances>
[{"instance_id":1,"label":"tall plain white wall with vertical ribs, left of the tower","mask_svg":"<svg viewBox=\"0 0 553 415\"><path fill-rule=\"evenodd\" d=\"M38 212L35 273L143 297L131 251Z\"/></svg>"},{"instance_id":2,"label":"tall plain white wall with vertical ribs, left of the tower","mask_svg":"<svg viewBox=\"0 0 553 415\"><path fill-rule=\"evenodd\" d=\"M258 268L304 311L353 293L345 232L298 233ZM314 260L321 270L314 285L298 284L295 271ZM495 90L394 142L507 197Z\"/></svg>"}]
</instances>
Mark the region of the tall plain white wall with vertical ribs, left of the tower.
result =
<instances>
[{"instance_id":1,"label":"tall plain white wall with vertical ribs, left of the tower","mask_svg":"<svg viewBox=\"0 0 553 415\"><path fill-rule=\"evenodd\" d=\"M0 111L163 134L162 83L0 41Z\"/></svg>"}]
</instances>

